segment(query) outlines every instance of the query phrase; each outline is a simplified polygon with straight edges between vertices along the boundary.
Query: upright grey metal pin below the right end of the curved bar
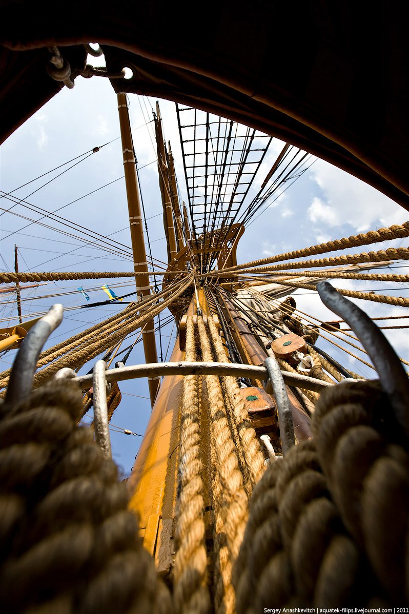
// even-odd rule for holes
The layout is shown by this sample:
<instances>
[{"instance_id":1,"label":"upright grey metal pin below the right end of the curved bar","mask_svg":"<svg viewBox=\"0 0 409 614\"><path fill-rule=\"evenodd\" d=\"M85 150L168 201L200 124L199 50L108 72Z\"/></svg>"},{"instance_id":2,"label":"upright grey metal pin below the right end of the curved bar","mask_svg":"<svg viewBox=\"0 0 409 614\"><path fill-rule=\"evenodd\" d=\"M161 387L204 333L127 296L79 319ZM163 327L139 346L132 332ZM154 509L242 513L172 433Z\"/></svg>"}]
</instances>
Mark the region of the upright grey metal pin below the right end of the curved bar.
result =
<instances>
[{"instance_id":1,"label":"upright grey metal pin below the right end of the curved bar","mask_svg":"<svg viewBox=\"0 0 409 614\"><path fill-rule=\"evenodd\" d=\"M287 395L286 384L282 379L279 364L275 358L266 358L263 365L268 372L278 412L278 424L280 427L282 454L286 454L295 445L294 424L290 402Z\"/></svg>"}]
</instances>

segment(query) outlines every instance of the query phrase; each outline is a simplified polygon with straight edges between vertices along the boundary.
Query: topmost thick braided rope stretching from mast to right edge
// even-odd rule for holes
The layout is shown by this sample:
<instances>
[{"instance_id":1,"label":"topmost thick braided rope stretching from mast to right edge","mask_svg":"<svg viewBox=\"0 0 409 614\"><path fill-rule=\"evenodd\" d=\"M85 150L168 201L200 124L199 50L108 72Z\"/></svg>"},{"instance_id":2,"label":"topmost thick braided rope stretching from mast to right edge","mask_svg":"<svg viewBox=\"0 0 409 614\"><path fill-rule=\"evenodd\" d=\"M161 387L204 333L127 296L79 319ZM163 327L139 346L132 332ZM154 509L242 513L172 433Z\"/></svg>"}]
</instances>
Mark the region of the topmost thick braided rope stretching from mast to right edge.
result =
<instances>
[{"instance_id":1,"label":"topmost thick braided rope stretching from mast to right edge","mask_svg":"<svg viewBox=\"0 0 409 614\"><path fill-rule=\"evenodd\" d=\"M391 241L409 236L409 222L404 222L402 225L392 225L389 228L380 228L379 230L370 230L367 233L359 233L359 235L351 235L348 238L334 239L327 243L320 243L311 247L297 249L293 252L286 252L268 258L260 258L241 265L230 266L225 268L224 272L237 271L247 266L267 265L272 262L281 262L281 260L289 260L290 258L302 258L303 256L313 256L315 254L327 254L328 252L337 251L338 249L348 249L349 247L360 247L361 245L370 245L372 243L380 243L380 241ZM387 250L388 251L388 250ZM288 266L288 265L286 265Z\"/></svg>"}]
</instances>

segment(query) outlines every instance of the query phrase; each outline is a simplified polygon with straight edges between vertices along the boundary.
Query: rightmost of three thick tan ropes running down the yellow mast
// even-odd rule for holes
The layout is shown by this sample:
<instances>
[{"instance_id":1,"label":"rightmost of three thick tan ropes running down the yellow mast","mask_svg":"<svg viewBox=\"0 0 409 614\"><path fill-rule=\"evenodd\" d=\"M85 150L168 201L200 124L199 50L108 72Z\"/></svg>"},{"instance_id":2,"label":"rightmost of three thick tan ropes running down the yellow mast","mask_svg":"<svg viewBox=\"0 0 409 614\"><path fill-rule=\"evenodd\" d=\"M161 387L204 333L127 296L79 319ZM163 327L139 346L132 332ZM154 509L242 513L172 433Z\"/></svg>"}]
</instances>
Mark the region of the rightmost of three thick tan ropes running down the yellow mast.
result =
<instances>
[{"instance_id":1,"label":"rightmost of three thick tan ropes running down the yellow mast","mask_svg":"<svg viewBox=\"0 0 409 614\"><path fill-rule=\"evenodd\" d=\"M208 317L208 325L217 360L219 362L229 362L222 340L211 317ZM264 473L264 457L260 449L259 440L255 437L255 430L251 427L249 413L244 405L236 379L223 378L222 385L224 386L228 402L232 407L233 419L240 437L241 448L243 449L251 484L257 484Z\"/></svg>"}]
</instances>

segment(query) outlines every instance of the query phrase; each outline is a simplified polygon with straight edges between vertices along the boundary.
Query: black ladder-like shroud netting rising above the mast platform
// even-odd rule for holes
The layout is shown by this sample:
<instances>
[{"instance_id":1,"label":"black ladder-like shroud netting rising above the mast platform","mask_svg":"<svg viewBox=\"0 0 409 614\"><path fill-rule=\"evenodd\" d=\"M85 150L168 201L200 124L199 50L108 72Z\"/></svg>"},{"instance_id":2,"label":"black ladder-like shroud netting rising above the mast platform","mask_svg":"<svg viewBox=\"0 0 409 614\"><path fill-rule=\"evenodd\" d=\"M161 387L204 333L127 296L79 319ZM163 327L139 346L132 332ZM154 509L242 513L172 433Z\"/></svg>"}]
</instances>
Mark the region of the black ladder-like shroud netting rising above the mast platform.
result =
<instances>
[{"instance_id":1,"label":"black ladder-like shroud netting rising above the mast platform","mask_svg":"<svg viewBox=\"0 0 409 614\"><path fill-rule=\"evenodd\" d=\"M308 154L287 144L272 158L273 138L267 134L192 107L176 104L176 111L192 239L196 249L204 243L209 248L198 262L206 273L233 224L248 223L284 184L295 181Z\"/></svg>"}]
</instances>

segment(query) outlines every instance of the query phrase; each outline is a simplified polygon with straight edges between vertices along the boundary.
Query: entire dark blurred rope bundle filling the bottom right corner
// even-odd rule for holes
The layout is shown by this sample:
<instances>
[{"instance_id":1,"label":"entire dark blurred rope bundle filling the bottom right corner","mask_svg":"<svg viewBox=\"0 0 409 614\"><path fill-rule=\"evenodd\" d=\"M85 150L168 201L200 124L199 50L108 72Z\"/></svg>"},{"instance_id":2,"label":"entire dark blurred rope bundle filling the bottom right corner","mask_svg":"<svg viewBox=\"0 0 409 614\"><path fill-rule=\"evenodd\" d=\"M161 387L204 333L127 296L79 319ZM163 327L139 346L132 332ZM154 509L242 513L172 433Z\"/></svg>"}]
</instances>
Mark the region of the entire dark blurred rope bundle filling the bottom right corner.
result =
<instances>
[{"instance_id":1,"label":"entire dark blurred rope bundle filling the bottom right corner","mask_svg":"<svg viewBox=\"0 0 409 614\"><path fill-rule=\"evenodd\" d=\"M313 432L254 489L233 572L238 614L409 601L408 442L379 383L326 389Z\"/></svg>"}]
</instances>

